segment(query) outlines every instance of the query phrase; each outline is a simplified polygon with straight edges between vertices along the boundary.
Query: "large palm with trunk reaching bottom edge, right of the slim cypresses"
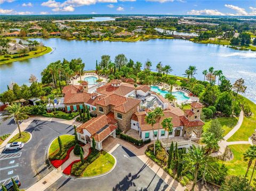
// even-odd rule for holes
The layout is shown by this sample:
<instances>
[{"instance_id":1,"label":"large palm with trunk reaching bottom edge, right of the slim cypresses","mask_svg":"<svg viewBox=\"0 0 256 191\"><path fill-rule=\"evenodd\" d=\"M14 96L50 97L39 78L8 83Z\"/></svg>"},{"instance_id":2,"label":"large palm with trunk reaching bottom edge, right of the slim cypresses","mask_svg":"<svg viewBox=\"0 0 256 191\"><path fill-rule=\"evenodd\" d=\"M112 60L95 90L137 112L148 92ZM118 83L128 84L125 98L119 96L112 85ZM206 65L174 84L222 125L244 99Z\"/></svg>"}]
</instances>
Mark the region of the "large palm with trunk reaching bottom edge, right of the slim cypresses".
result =
<instances>
[{"instance_id":1,"label":"large palm with trunk reaching bottom edge, right of the slim cypresses","mask_svg":"<svg viewBox=\"0 0 256 191\"><path fill-rule=\"evenodd\" d=\"M194 190L196 181L197 181L197 175L198 170L200 167L206 164L208 155L205 155L204 147L196 147L195 145L192 145L192 148L188 148L188 153L185 157L185 161L187 161L190 165L189 167L194 167L194 181L191 190Z\"/></svg>"}]
</instances>

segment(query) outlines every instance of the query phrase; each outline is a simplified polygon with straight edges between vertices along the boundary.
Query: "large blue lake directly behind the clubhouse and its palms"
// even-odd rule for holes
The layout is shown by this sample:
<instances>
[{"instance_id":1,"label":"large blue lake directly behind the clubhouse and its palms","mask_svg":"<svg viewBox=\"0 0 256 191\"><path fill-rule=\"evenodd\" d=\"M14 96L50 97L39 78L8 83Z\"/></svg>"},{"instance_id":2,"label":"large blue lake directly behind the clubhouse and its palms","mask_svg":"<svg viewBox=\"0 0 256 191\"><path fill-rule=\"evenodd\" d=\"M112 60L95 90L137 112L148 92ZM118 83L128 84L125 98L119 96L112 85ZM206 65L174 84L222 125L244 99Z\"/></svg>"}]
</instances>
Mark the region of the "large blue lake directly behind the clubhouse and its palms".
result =
<instances>
[{"instance_id":1,"label":"large blue lake directly behind the clubhouse and its palms","mask_svg":"<svg viewBox=\"0 0 256 191\"><path fill-rule=\"evenodd\" d=\"M100 62L101 55L108 54L114 61L117 54L123 53L128 59L143 64L149 59L153 63L152 69L155 69L160 61L163 65L170 64L173 69L171 74L177 76L182 76L189 65L196 65L196 78L200 80L204 78L202 71L209 67L222 70L231 82L244 78L247 86L244 95L256 103L256 52L237 51L213 44L197 44L182 39L153 39L136 43L61 38L30 40L38 40L52 47L53 51L33 59L0 65L1 92L4 92L12 81L19 85L29 85L30 74L34 74L40 80L42 70L57 60L81 57L85 63L85 70L93 70L96 60Z\"/></svg>"}]
</instances>

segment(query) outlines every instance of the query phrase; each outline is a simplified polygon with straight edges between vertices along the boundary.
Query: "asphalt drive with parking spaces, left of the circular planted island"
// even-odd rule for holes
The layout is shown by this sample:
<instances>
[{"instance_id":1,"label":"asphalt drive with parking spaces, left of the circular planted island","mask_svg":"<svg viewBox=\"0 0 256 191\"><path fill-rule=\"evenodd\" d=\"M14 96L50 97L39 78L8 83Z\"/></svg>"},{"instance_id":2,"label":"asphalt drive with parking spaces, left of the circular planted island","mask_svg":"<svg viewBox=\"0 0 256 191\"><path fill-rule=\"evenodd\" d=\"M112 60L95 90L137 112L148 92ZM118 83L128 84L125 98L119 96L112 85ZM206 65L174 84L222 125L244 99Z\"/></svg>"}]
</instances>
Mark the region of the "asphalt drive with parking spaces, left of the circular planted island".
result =
<instances>
[{"instance_id":1,"label":"asphalt drive with parking spaces, left of the circular planted island","mask_svg":"<svg viewBox=\"0 0 256 191\"><path fill-rule=\"evenodd\" d=\"M6 184L11 177L17 176L21 181L21 188L35 184L52 170L46 160L52 140L59 135L74 132L73 127L67 124L36 120L30 123L26 131L31 133L32 139L22 150L4 151L0 155L0 184Z\"/></svg>"}]
</instances>

